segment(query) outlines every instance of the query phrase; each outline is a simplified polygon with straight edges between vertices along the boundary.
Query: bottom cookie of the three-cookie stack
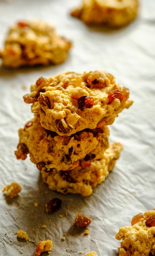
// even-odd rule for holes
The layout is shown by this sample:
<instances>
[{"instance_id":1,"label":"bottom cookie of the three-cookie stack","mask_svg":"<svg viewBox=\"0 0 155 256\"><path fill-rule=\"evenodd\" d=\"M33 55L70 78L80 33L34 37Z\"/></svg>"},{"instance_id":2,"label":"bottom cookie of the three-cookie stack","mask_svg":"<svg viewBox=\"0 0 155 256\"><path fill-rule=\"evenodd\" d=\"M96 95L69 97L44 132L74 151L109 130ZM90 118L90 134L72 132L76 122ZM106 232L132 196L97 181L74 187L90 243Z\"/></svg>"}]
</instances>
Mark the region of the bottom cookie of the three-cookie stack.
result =
<instances>
[{"instance_id":1,"label":"bottom cookie of the three-cookie stack","mask_svg":"<svg viewBox=\"0 0 155 256\"><path fill-rule=\"evenodd\" d=\"M104 157L90 162L90 166L79 166L71 171L57 171L53 173L41 172L42 179L48 184L49 189L63 194L80 193L83 196L91 195L93 187L97 186L108 177L119 158L122 144L111 143L104 151Z\"/></svg>"}]
</instances>

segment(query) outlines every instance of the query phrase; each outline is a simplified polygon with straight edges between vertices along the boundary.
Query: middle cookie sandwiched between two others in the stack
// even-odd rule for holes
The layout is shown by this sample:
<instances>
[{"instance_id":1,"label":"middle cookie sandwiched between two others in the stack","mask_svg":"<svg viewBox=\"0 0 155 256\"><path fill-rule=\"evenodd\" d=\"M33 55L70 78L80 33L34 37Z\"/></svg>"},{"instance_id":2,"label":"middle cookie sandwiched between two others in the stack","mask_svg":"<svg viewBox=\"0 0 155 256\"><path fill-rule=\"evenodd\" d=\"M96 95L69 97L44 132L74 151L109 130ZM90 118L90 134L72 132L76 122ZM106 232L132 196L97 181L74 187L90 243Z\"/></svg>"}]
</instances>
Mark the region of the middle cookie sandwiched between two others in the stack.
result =
<instances>
[{"instance_id":1,"label":"middle cookie sandwiched between two others in the stack","mask_svg":"<svg viewBox=\"0 0 155 256\"><path fill-rule=\"evenodd\" d=\"M100 159L109 146L107 126L94 130L85 129L72 136L60 136L43 128L39 116L28 121L19 129L19 144L15 155L24 160L28 154L40 171L68 171L75 167L89 165L93 159Z\"/></svg>"}]
</instances>

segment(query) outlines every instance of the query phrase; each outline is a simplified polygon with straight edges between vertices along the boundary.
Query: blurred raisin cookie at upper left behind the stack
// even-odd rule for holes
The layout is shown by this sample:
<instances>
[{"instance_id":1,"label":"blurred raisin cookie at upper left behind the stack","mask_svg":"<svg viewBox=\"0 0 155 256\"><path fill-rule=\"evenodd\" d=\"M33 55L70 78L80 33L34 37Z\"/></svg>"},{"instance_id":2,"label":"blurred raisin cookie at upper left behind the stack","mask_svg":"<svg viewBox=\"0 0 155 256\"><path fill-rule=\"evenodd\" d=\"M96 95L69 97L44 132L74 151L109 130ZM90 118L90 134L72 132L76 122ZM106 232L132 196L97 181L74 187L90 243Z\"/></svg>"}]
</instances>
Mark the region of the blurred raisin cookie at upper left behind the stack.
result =
<instances>
[{"instance_id":1,"label":"blurred raisin cookie at upper left behind the stack","mask_svg":"<svg viewBox=\"0 0 155 256\"><path fill-rule=\"evenodd\" d=\"M59 64L67 58L70 47L71 42L58 36L47 22L21 21L10 27L0 58L11 68Z\"/></svg>"}]
</instances>

